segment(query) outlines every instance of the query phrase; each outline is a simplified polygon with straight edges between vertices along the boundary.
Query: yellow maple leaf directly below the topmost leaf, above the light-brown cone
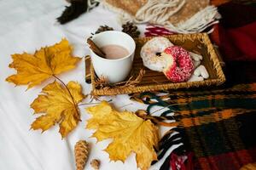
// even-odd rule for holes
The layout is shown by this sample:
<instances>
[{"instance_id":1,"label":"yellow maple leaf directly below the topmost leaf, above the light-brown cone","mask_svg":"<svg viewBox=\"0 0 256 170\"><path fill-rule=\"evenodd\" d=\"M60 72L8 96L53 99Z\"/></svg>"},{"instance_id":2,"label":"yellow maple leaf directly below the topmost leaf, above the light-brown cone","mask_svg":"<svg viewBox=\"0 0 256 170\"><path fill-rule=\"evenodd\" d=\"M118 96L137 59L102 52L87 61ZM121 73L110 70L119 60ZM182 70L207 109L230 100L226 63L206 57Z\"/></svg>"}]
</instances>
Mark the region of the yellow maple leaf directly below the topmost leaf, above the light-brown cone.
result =
<instances>
[{"instance_id":1,"label":"yellow maple leaf directly below the topmost leaf, above the light-brown cone","mask_svg":"<svg viewBox=\"0 0 256 170\"><path fill-rule=\"evenodd\" d=\"M44 132L59 123L59 132L64 138L77 126L80 120L78 104L84 99L84 94L77 82L68 82L67 88L58 82L52 82L43 88L42 94L32 102L31 107L35 113L46 114L32 123L32 129L42 129Z\"/></svg>"}]
</instances>

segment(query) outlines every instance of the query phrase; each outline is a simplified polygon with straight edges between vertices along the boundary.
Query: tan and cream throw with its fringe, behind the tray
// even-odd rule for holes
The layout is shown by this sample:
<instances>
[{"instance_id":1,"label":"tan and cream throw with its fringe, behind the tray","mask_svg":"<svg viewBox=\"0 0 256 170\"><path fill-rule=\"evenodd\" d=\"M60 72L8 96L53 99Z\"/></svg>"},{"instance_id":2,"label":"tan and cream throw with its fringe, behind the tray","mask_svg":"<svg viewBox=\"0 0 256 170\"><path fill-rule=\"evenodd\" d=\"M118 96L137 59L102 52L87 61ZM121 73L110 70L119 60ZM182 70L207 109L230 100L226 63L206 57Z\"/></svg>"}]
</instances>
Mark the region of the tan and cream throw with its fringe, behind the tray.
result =
<instances>
[{"instance_id":1,"label":"tan and cream throw with its fringe, behind the tray","mask_svg":"<svg viewBox=\"0 0 256 170\"><path fill-rule=\"evenodd\" d=\"M196 33L218 23L217 8L209 0L102 0L119 13L122 23L151 23L178 33ZM211 30L212 31L212 30Z\"/></svg>"}]
</instances>

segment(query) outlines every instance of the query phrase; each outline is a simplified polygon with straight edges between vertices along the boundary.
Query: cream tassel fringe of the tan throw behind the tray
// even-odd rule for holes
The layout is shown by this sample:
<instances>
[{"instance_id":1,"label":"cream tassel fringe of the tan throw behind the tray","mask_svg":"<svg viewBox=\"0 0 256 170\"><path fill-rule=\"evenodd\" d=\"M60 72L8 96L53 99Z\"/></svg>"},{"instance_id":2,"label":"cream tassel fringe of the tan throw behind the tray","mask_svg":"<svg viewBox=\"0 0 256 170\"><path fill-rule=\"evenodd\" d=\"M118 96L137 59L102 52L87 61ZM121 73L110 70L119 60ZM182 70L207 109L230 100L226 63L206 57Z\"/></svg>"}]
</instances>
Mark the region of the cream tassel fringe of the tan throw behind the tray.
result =
<instances>
[{"instance_id":1,"label":"cream tassel fringe of the tan throw behind the tray","mask_svg":"<svg viewBox=\"0 0 256 170\"><path fill-rule=\"evenodd\" d=\"M148 2L137 11L135 16L126 13L121 8L115 8L107 1L103 0L102 4L104 7L109 8L119 14L119 21L126 23L128 21L143 24L150 22L151 24L165 26L170 31L177 33L197 33L205 31L209 26L218 23L220 14L214 6L207 6L201 11L193 15L189 20L185 20L174 26L169 18L176 14L181 8L183 8L186 0L148 0ZM212 32L208 31L208 33Z\"/></svg>"}]
</instances>

